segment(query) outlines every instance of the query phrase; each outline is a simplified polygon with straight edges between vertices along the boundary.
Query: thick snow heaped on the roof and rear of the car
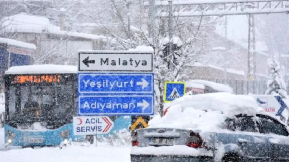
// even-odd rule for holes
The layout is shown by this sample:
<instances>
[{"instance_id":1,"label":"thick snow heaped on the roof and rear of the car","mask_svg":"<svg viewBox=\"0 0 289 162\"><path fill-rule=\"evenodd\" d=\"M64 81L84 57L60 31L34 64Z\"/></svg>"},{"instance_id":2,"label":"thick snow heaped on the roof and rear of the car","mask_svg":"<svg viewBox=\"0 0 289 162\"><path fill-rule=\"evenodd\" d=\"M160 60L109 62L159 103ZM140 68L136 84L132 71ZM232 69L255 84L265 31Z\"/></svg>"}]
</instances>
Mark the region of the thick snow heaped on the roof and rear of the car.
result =
<instances>
[{"instance_id":1,"label":"thick snow heaped on the roof and rear of the car","mask_svg":"<svg viewBox=\"0 0 289 162\"><path fill-rule=\"evenodd\" d=\"M183 96L169 103L171 106L162 118L154 117L150 127L170 127L220 131L227 117L241 113L255 115L264 112L252 96L233 95L226 92ZM207 112L203 111L207 110Z\"/></svg>"}]
</instances>

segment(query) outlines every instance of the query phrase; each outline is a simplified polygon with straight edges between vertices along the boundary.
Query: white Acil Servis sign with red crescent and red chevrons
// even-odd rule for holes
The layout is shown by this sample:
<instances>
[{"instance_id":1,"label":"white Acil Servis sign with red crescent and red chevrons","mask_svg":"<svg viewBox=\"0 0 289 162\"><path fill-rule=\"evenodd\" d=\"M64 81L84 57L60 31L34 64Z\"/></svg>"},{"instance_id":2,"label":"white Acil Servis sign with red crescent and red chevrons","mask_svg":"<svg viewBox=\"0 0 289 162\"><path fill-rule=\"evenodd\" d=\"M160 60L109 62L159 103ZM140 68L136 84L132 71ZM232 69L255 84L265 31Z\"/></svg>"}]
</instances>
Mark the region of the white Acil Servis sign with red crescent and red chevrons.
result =
<instances>
[{"instance_id":1,"label":"white Acil Servis sign with red crescent and red chevrons","mask_svg":"<svg viewBox=\"0 0 289 162\"><path fill-rule=\"evenodd\" d=\"M107 116L73 117L74 135L108 134L113 121Z\"/></svg>"}]
</instances>

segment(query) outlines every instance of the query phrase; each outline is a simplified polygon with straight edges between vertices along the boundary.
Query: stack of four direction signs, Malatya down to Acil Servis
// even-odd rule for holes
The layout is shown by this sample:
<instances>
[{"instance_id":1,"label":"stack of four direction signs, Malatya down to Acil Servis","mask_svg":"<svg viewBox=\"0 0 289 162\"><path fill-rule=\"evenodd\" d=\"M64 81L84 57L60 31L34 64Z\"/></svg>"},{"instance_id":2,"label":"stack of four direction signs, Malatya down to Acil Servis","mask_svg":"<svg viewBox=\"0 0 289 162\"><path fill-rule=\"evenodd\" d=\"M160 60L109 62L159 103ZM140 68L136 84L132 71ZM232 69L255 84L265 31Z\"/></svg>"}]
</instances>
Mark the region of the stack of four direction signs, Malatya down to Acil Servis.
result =
<instances>
[{"instance_id":1,"label":"stack of four direction signs, Malatya down to Acil Servis","mask_svg":"<svg viewBox=\"0 0 289 162\"><path fill-rule=\"evenodd\" d=\"M97 134L109 133L113 128L109 115L154 115L153 52L79 51L78 58L75 120L98 119L112 125L106 124L107 129L101 123L86 123L81 129L74 125L75 134L92 135L95 125Z\"/></svg>"}]
</instances>

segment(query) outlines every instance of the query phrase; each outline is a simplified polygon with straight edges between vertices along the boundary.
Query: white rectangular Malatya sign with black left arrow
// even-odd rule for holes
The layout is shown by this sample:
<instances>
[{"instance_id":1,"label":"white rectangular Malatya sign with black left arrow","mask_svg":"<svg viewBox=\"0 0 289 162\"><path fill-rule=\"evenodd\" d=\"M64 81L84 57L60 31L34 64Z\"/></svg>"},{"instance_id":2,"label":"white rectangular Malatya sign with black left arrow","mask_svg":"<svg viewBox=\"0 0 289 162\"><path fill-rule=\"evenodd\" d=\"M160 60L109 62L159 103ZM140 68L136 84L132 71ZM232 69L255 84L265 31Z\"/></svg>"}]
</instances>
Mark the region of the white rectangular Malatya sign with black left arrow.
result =
<instances>
[{"instance_id":1,"label":"white rectangular Malatya sign with black left arrow","mask_svg":"<svg viewBox=\"0 0 289 162\"><path fill-rule=\"evenodd\" d=\"M79 71L153 71L153 53L78 52Z\"/></svg>"}]
</instances>

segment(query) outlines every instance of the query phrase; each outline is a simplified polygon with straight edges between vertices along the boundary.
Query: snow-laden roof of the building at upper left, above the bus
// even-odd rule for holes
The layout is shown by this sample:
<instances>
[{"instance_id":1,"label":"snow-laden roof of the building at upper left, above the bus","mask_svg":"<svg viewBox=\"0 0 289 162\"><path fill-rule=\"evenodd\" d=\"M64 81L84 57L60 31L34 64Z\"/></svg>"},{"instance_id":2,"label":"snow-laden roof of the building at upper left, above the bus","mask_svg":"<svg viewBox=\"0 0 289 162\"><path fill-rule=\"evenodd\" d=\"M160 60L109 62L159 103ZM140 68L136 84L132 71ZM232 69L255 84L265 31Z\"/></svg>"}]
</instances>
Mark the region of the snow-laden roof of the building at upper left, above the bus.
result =
<instances>
[{"instance_id":1,"label":"snow-laden roof of the building at upper left, above the bus","mask_svg":"<svg viewBox=\"0 0 289 162\"><path fill-rule=\"evenodd\" d=\"M5 32L51 33L85 39L107 39L107 37L103 35L62 31L60 30L60 27L51 24L48 18L28 15L26 13L5 17L2 19L2 22L1 27L5 28Z\"/></svg>"}]
</instances>

